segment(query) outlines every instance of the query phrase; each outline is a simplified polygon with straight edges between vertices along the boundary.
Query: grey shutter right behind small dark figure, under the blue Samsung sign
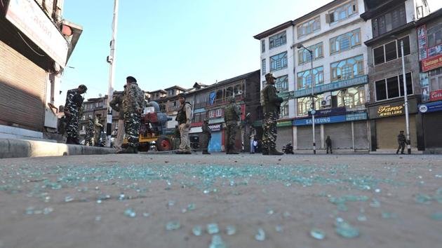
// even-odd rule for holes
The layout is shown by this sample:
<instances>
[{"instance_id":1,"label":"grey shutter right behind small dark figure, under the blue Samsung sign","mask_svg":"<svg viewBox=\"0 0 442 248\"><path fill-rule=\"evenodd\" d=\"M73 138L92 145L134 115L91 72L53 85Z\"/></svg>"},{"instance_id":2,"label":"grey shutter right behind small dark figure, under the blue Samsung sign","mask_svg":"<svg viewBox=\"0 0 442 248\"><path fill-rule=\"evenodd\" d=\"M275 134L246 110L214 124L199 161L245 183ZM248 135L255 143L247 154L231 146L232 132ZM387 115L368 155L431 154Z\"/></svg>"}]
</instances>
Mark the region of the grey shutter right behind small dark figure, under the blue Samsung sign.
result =
<instances>
[{"instance_id":1,"label":"grey shutter right behind small dark figure, under the blue Samsung sign","mask_svg":"<svg viewBox=\"0 0 442 248\"><path fill-rule=\"evenodd\" d=\"M353 149L351 123L333 123L324 125L324 139L330 135L333 149Z\"/></svg>"}]
</instances>

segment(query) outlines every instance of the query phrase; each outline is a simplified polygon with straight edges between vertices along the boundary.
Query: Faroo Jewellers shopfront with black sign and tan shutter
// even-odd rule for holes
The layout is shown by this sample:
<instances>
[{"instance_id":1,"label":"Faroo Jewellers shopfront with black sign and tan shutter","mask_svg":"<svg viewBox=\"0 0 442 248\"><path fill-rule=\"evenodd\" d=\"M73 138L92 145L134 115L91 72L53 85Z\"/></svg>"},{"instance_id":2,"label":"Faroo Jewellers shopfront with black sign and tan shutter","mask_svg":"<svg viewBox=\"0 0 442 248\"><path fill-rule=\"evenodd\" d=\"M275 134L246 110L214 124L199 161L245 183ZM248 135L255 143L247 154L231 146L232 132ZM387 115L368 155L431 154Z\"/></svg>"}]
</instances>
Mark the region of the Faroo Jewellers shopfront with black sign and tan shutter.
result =
<instances>
[{"instance_id":1,"label":"Faroo Jewellers shopfront with black sign and tan shutter","mask_svg":"<svg viewBox=\"0 0 442 248\"><path fill-rule=\"evenodd\" d=\"M409 123L411 147L418 144L417 126L420 126L420 117L417 113L417 99L409 99ZM403 99L377 103L368 106L370 116L371 151L377 149L396 149L399 131L406 132L406 116Z\"/></svg>"}]
</instances>

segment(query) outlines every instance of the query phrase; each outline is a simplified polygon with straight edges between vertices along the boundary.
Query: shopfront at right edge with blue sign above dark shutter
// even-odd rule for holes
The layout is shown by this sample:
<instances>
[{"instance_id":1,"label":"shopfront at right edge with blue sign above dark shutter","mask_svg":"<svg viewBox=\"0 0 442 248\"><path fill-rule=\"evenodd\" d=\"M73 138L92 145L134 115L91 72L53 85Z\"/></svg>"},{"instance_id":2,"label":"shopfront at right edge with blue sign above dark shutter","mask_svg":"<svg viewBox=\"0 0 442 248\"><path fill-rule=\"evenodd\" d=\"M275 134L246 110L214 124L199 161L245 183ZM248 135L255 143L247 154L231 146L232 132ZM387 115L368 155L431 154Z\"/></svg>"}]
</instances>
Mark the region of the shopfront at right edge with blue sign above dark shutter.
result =
<instances>
[{"instance_id":1,"label":"shopfront at right edge with blue sign above dark shutter","mask_svg":"<svg viewBox=\"0 0 442 248\"><path fill-rule=\"evenodd\" d=\"M442 101L420 104L425 151L442 151Z\"/></svg>"}]
</instances>

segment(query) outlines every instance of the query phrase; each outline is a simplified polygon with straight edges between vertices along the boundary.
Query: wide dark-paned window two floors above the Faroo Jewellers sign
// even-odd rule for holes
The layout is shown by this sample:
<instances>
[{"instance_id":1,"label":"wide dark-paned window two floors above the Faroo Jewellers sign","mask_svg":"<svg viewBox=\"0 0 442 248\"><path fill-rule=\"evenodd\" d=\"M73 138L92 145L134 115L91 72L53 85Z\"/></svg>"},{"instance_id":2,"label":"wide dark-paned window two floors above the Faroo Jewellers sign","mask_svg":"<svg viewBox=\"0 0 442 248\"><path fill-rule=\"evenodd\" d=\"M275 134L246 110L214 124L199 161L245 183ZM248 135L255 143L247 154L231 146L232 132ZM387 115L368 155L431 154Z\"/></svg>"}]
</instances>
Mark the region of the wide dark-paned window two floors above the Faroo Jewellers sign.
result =
<instances>
[{"instance_id":1,"label":"wide dark-paned window two floors above the Faroo Jewellers sign","mask_svg":"<svg viewBox=\"0 0 442 248\"><path fill-rule=\"evenodd\" d=\"M403 41L403 53L405 55L410 55L410 37L405 36L398 41L391 41L373 49L375 65L383 64L401 57L401 41Z\"/></svg>"}]
</instances>

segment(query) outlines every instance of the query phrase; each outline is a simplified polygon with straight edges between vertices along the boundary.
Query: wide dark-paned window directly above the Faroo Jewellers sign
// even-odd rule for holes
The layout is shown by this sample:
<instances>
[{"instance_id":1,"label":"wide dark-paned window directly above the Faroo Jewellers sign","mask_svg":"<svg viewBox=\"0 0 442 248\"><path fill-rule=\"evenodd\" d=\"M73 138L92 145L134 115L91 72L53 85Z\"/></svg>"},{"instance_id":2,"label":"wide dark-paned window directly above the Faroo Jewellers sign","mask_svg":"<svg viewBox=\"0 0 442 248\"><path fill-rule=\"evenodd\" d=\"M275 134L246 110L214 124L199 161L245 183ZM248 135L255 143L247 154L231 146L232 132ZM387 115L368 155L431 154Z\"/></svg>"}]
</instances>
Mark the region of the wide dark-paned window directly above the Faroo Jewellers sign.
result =
<instances>
[{"instance_id":1,"label":"wide dark-paned window directly above the Faroo Jewellers sign","mask_svg":"<svg viewBox=\"0 0 442 248\"><path fill-rule=\"evenodd\" d=\"M382 101L384 99L392 99L397 97L403 97L403 76L393 76L391 78L382 79L375 82L376 87L376 101ZM413 95L413 81L411 73L406 74L407 80L407 94Z\"/></svg>"}]
</instances>

